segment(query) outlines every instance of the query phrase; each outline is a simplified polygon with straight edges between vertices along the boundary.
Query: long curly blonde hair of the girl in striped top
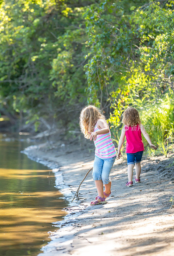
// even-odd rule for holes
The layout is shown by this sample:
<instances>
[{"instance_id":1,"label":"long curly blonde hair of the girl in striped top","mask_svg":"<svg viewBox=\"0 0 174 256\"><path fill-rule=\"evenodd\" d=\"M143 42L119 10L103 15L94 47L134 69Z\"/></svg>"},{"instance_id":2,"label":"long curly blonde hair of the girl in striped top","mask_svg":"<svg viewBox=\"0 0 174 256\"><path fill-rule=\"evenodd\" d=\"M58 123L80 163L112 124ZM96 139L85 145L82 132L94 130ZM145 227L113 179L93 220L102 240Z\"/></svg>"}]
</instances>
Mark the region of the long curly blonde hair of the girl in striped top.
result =
<instances>
[{"instance_id":1,"label":"long curly blonde hair of the girl in striped top","mask_svg":"<svg viewBox=\"0 0 174 256\"><path fill-rule=\"evenodd\" d=\"M105 116L101 113L99 108L93 105L86 106L80 113L80 129L86 139L90 138L88 132L93 132L95 124L99 119L106 121Z\"/></svg>"}]
</instances>

